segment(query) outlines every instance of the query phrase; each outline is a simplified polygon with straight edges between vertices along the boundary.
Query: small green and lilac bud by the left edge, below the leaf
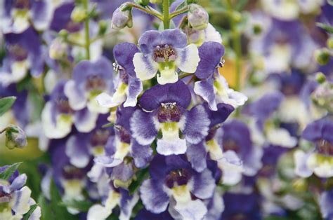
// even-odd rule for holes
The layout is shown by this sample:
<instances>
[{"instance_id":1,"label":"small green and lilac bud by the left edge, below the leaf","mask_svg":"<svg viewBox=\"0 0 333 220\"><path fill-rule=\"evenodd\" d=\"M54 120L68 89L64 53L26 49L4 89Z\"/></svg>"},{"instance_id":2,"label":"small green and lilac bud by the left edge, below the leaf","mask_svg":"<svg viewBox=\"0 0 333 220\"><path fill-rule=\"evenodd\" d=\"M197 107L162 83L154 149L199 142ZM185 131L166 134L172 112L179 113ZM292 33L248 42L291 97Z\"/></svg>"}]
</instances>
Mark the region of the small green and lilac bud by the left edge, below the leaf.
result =
<instances>
[{"instance_id":1,"label":"small green and lilac bud by the left edge, below the leaf","mask_svg":"<svg viewBox=\"0 0 333 220\"><path fill-rule=\"evenodd\" d=\"M6 130L6 146L8 149L15 149L27 146L25 132L16 125L8 125Z\"/></svg>"}]
</instances>

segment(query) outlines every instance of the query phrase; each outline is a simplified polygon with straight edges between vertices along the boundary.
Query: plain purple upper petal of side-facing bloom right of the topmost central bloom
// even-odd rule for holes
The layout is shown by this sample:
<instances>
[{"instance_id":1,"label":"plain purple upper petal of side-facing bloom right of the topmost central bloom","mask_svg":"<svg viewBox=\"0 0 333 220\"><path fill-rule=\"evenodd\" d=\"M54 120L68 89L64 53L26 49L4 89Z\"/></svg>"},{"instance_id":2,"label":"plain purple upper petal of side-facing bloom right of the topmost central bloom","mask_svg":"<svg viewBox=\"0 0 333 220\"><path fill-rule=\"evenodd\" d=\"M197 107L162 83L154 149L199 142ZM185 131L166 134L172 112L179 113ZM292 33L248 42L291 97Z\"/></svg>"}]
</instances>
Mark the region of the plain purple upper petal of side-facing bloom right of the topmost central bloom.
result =
<instances>
[{"instance_id":1,"label":"plain purple upper petal of side-facing bloom right of the topmost central bloom","mask_svg":"<svg viewBox=\"0 0 333 220\"><path fill-rule=\"evenodd\" d=\"M199 48L200 62L195 71L197 78L207 78L214 74L221 57L224 55L224 46L221 43L205 42Z\"/></svg>"}]
</instances>

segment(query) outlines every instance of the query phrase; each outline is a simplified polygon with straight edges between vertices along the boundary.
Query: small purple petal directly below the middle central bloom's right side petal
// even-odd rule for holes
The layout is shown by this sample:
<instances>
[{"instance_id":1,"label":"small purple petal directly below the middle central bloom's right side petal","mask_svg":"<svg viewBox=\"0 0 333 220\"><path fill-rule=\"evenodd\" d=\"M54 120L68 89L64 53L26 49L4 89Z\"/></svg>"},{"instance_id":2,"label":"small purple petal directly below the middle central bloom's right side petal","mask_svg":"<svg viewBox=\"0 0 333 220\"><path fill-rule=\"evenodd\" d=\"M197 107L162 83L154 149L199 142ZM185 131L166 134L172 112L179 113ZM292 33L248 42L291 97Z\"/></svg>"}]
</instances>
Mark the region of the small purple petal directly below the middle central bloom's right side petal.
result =
<instances>
[{"instance_id":1,"label":"small purple petal directly below the middle central bloom's right side petal","mask_svg":"<svg viewBox=\"0 0 333 220\"><path fill-rule=\"evenodd\" d=\"M202 172L202 170L206 169L207 151L204 142L200 142L199 144L189 144L186 156L188 156L192 168L197 172Z\"/></svg>"}]
</instances>

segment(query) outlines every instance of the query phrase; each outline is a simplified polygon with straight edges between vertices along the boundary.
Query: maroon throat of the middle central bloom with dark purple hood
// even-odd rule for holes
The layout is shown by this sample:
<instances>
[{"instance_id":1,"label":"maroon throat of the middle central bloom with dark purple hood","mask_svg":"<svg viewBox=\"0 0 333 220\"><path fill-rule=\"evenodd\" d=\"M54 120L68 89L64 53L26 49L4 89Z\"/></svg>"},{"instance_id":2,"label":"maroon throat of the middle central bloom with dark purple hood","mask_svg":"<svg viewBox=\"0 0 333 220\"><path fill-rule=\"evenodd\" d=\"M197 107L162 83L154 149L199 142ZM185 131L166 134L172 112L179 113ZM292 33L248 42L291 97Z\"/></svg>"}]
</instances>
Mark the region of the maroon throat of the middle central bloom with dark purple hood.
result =
<instances>
[{"instance_id":1,"label":"maroon throat of the middle central bloom with dark purple hood","mask_svg":"<svg viewBox=\"0 0 333 220\"><path fill-rule=\"evenodd\" d=\"M181 109L176 106L176 102L162 103L159 108L157 118L160 123L168 121L180 121L181 120Z\"/></svg>"}]
</instances>

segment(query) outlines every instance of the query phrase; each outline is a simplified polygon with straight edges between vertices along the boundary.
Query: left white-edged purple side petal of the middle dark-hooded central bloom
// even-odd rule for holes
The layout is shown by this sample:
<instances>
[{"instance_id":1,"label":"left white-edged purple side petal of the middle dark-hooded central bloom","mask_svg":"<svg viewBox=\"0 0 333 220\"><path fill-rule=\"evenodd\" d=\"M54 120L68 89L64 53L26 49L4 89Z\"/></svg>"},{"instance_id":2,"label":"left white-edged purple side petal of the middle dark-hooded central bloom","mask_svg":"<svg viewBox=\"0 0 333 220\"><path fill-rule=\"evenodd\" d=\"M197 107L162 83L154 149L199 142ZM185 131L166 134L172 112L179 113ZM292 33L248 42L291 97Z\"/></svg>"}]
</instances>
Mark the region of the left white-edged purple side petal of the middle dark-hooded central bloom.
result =
<instances>
[{"instance_id":1,"label":"left white-edged purple side petal of the middle dark-hooded central bloom","mask_svg":"<svg viewBox=\"0 0 333 220\"><path fill-rule=\"evenodd\" d=\"M131 117L131 132L139 144L149 145L157 136L153 114L136 110Z\"/></svg>"}]
</instances>

